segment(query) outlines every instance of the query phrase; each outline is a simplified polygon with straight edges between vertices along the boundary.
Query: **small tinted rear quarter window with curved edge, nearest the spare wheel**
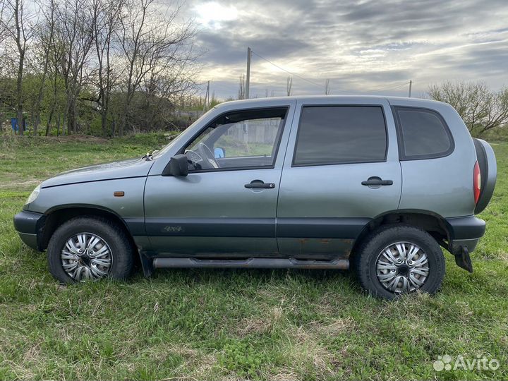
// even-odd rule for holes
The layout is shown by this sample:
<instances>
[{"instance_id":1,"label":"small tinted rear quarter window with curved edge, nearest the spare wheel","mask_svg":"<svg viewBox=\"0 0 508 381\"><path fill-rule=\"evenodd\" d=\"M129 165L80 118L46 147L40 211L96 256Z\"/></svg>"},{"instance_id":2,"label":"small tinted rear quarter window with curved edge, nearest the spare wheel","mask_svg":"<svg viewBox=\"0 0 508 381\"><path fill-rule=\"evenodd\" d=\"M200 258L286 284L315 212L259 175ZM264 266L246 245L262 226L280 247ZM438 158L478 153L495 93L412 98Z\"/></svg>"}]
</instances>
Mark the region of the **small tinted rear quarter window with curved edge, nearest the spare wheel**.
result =
<instances>
[{"instance_id":1,"label":"small tinted rear quarter window with curved edge, nearest the spare wheel","mask_svg":"<svg viewBox=\"0 0 508 381\"><path fill-rule=\"evenodd\" d=\"M444 119L436 111L394 107L401 160L433 159L452 153L454 143Z\"/></svg>"}]
</instances>

